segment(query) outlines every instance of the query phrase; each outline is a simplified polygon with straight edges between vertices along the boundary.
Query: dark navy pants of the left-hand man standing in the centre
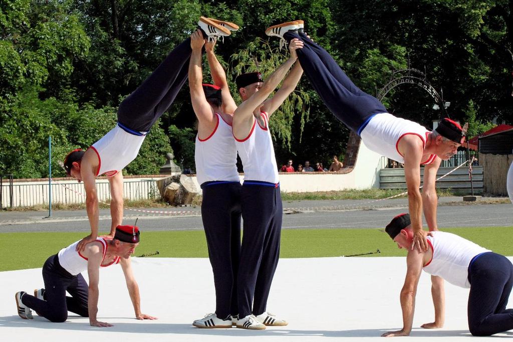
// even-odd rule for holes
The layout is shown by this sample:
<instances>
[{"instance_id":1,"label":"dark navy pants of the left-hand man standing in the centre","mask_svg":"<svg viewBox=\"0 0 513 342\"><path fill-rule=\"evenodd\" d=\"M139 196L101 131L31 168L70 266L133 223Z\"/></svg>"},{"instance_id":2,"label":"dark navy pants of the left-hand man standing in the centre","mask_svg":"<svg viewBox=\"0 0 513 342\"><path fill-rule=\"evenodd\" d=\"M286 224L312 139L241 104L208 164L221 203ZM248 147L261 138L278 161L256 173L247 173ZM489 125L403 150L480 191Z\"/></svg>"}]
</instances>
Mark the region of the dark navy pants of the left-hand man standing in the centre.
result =
<instances>
[{"instance_id":1,"label":"dark navy pants of the left-hand man standing in the centre","mask_svg":"<svg viewBox=\"0 0 513 342\"><path fill-rule=\"evenodd\" d=\"M241 252L241 183L206 182L201 185L201 216L215 287L215 314L237 315L237 274Z\"/></svg>"}]
</instances>

